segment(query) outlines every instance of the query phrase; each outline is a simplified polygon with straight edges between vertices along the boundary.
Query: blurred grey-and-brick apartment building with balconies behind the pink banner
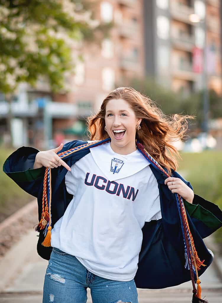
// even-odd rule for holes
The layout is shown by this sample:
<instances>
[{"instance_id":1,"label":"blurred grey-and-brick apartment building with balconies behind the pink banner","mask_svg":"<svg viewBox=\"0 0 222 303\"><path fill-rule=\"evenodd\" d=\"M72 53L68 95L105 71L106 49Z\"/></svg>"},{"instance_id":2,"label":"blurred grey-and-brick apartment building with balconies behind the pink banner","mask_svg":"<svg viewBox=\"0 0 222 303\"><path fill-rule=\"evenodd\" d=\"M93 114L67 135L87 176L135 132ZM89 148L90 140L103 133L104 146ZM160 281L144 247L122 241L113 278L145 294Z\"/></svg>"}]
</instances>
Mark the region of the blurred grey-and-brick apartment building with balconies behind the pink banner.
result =
<instances>
[{"instance_id":1,"label":"blurred grey-and-brick apartment building with balconies behind the pink banner","mask_svg":"<svg viewBox=\"0 0 222 303\"><path fill-rule=\"evenodd\" d=\"M184 96L206 82L222 93L220 0L144 1L144 24L148 75Z\"/></svg>"}]
</instances>

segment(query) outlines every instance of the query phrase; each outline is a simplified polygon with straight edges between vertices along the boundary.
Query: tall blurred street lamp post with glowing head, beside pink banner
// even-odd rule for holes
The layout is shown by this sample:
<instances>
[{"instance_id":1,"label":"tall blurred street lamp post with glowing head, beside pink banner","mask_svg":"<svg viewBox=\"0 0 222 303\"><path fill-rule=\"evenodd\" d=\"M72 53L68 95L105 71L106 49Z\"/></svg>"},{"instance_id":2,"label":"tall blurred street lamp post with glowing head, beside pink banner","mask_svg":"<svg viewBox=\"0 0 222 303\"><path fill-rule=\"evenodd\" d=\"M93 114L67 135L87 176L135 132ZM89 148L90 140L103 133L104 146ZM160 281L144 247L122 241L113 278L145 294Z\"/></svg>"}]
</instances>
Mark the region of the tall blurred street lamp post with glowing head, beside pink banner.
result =
<instances>
[{"instance_id":1,"label":"tall blurred street lamp post with glowing head, beside pink banner","mask_svg":"<svg viewBox=\"0 0 222 303\"><path fill-rule=\"evenodd\" d=\"M200 19L197 14L191 14L189 19L193 23L203 22L204 24L204 47L203 47L203 109L204 109L204 121L203 121L203 131L208 133L208 111L209 111L209 93L208 93L208 79L207 79L207 18L205 15L204 19Z\"/></svg>"}]
</instances>

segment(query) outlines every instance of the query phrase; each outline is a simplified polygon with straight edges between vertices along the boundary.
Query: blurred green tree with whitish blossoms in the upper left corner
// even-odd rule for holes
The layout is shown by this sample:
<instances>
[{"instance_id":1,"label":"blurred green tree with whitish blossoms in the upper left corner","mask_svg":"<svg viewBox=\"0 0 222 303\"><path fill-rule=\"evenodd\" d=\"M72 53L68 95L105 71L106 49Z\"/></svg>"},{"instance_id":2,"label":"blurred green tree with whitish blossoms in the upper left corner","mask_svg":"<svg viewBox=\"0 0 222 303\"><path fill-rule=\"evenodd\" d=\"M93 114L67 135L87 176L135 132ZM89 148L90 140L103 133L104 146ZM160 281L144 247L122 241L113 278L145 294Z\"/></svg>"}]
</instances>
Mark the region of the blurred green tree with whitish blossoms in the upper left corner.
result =
<instances>
[{"instance_id":1,"label":"blurred green tree with whitish blossoms in the upper left corner","mask_svg":"<svg viewBox=\"0 0 222 303\"><path fill-rule=\"evenodd\" d=\"M65 79L81 59L80 42L101 42L111 23L93 18L87 0L0 0L0 92L11 104L20 82L41 78L52 92L68 91ZM11 112L8 113L10 130Z\"/></svg>"}]
</instances>

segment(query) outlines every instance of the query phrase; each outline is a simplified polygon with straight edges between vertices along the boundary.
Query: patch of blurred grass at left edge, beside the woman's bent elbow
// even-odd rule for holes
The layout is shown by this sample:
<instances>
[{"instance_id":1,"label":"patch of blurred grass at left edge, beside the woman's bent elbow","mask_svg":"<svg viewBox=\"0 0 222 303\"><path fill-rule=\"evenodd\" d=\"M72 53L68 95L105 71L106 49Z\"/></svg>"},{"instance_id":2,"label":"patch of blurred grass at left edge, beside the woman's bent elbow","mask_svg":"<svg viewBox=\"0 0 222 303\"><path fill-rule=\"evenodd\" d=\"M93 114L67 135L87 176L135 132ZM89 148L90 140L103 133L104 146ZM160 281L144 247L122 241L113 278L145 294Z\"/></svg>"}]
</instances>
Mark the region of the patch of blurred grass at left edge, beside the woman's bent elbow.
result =
<instances>
[{"instance_id":1,"label":"patch of blurred grass at left edge, beside the woman's bent elbow","mask_svg":"<svg viewBox=\"0 0 222 303\"><path fill-rule=\"evenodd\" d=\"M34 199L2 171L3 163L13 151L0 148L0 222Z\"/></svg>"}]
</instances>

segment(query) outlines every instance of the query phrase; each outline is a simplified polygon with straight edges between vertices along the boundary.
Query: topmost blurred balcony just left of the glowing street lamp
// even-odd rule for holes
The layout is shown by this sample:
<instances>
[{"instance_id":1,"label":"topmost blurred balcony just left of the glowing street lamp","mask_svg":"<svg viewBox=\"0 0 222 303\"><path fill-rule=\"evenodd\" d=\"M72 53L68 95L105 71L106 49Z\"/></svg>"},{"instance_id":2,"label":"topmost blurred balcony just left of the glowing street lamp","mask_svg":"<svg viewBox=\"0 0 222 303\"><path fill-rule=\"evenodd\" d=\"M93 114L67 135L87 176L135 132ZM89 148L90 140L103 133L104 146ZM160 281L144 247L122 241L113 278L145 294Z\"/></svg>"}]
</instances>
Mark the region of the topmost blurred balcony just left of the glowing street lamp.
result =
<instances>
[{"instance_id":1,"label":"topmost blurred balcony just left of the glowing street lamp","mask_svg":"<svg viewBox=\"0 0 222 303\"><path fill-rule=\"evenodd\" d=\"M173 18L192 24L189 19L191 14L194 14L194 8L188 5L180 4L176 1L171 2L170 12Z\"/></svg>"}]
</instances>

